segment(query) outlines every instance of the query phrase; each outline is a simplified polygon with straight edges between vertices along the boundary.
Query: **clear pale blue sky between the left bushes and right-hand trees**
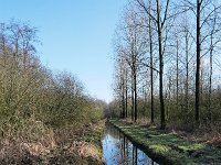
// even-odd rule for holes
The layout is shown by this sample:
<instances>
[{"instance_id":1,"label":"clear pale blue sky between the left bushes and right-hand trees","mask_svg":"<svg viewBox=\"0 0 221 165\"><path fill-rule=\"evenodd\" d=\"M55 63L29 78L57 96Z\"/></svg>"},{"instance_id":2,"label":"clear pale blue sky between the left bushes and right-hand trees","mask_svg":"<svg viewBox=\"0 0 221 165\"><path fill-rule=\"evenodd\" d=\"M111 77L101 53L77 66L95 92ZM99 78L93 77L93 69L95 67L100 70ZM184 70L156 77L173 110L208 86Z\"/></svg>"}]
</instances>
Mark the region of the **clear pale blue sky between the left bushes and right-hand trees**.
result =
<instances>
[{"instance_id":1,"label":"clear pale blue sky between the left bushes and right-hand trees","mask_svg":"<svg viewBox=\"0 0 221 165\"><path fill-rule=\"evenodd\" d=\"M53 72L71 72L91 96L112 99L115 28L127 0L0 0L0 22L38 28L39 55Z\"/></svg>"}]
</instances>

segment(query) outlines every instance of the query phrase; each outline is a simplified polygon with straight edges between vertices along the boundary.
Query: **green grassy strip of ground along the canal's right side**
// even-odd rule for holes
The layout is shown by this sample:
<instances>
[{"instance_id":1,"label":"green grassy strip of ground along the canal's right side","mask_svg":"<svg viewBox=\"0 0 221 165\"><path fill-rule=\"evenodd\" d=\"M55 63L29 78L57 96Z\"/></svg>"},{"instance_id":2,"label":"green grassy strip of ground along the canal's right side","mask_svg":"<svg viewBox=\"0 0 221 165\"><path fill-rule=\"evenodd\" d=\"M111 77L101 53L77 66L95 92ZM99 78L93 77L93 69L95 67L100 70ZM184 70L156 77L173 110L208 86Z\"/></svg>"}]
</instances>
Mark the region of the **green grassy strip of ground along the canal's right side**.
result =
<instances>
[{"instance_id":1,"label":"green grassy strip of ground along the canal's right side","mask_svg":"<svg viewBox=\"0 0 221 165\"><path fill-rule=\"evenodd\" d=\"M221 164L219 145L201 141L192 135L162 131L147 124L110 120L131 142L156 162L162 164Z\"/></svg>"}]
</instances>

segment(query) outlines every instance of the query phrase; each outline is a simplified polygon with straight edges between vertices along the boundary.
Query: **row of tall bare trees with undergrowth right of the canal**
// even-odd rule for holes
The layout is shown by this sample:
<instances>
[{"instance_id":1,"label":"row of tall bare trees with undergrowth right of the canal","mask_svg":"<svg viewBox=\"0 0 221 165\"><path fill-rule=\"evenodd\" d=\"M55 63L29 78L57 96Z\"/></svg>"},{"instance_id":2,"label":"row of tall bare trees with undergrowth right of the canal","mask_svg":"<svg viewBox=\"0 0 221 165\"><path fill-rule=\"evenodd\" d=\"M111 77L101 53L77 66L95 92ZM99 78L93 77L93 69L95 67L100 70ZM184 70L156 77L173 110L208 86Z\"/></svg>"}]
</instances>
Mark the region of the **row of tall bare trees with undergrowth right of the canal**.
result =
<instances>
[{"instance_id":1,"label":"row of tall bare trees with undergrowth right of the canal","mask_svg":"<svg viewBox=\"0 0 221 165\"><path fill-rule=\"evenodd\" d=\"M221 4L133 0L114 40L108 116L192 130L220 128Z\"/></svg>"}]
</instances>

